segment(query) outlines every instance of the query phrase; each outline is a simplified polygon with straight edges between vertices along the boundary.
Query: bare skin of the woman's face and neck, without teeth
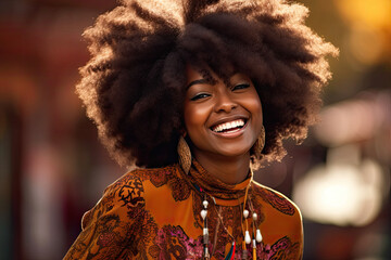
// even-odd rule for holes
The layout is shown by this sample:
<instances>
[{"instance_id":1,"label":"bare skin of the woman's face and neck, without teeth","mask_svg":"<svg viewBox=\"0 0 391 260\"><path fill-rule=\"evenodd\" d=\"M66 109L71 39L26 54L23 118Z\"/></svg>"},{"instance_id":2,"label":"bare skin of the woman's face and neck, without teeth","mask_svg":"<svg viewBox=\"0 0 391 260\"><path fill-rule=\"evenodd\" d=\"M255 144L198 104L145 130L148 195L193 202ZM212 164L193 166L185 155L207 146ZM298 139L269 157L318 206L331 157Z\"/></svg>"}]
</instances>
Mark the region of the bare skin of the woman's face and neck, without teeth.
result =
<instances>
[{"instance_id":1,"label":"bare skin of the woman's face and neck, without teeth","mask_svg":"<svg viewBox=\"0 0 391 260\"><path fill-rule=\"evenodd\" d=\"M242 182L250 167L250 150L262 129L262 104L250 78L235 74L226 86L215 74L211 83L190 65L187 66L187 93L184 117L191 140L192 156L212 176L228 184ZM245 125L230 132L215 132L214 127L243 120Z\"/></svg>"}]
</instances>

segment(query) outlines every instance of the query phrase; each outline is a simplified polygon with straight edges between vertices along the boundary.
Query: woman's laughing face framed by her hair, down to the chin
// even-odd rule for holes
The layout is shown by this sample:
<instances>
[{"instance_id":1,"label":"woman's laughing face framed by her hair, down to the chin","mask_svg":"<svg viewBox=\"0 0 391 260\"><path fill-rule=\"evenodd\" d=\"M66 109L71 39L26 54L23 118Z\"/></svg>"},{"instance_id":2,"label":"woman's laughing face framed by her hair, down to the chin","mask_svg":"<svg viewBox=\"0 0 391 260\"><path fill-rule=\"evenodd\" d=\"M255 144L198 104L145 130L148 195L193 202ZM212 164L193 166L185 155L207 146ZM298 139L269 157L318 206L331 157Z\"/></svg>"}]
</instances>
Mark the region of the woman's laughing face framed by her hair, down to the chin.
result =
<instances>
[{"instance_id":1,"label":"woman's laughing face framed by her hair, down to the chin","mask_svg":"<svg viewBox=\"0 0 391 260\"><path fill-rule=\"evenodd\" d=\"M187 66L185 126L199 156L249 155L262 129L262 106L250 78L236 74L226 86L216 75L211 83Z\"/></svg>"}]
</instances>

